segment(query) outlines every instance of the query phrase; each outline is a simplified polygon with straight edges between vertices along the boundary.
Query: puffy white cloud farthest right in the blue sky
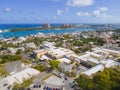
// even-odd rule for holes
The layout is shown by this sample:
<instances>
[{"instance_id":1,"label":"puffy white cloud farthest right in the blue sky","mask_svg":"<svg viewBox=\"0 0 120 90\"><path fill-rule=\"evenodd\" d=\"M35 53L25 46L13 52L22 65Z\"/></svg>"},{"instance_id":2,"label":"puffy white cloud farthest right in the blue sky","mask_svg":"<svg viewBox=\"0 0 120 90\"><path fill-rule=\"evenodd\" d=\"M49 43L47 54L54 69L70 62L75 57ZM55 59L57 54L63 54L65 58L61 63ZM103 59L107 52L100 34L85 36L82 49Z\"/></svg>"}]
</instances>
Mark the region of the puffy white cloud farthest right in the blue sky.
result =
<instances>
[{"instance_id":1,"label":"puffy white cloud farthest right in the blue sky","mask_svg":"<svg viewBox=\"0 0 120 90\"><path fill-rule=\"evenodd\" d=\"M93 11L93 16L95 16L97 18L101 18L101 19L114 18L113 16L106 13L108 10L109 9L106 7L98 8L97 10Z\"/></svg>"}]
</instances>

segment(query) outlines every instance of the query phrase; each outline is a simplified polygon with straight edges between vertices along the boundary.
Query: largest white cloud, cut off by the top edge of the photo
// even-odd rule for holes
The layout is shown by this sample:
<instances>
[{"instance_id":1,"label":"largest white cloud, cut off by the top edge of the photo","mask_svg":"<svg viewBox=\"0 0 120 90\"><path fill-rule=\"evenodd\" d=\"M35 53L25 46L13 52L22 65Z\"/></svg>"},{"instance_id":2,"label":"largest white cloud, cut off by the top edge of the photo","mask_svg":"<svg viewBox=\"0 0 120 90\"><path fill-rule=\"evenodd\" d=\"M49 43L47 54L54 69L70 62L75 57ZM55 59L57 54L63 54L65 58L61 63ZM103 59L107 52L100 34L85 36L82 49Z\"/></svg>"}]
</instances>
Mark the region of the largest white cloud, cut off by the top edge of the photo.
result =
<instances>
[{"instance_id":1,"label":"largest white cloud, cut off by the top edge of the photo","mask_svg":"<svg viewBox=\"0 0 120 90\"><path fill-rule=\"evenodd\" d=\"M93 5L93 0L68 0L66 5L70 7L85 7Z\"/></svg>"}]
</instances>

